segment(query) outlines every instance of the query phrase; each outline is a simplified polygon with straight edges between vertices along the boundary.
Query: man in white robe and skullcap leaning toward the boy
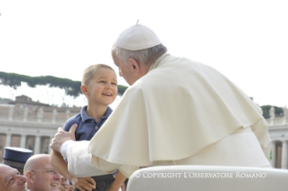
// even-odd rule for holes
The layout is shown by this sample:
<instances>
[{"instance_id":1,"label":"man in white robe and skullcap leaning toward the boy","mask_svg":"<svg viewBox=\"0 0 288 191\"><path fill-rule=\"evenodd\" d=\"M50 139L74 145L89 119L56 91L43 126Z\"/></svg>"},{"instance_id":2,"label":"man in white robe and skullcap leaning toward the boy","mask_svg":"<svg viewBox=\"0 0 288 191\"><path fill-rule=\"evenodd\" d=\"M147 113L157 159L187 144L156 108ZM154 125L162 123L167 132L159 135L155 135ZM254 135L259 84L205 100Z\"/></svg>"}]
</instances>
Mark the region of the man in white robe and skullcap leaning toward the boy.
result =
<instances>
[{"instance_id":1,"label":"man in white robe and skullcap leaning toward the boy","mask_svg":"<svg viewBox=\"0 0 288 191\"><path fill-rule=\"evenodd\" d=\"M135 24L112 57L130 85L91 141L59 132L51 148L73 176L145 166L217 165L271 168L270 137L258 105L216 69L174 57L156 34ZM85 166L85 167L83 167Z\"/></svg>"}]
</instances>

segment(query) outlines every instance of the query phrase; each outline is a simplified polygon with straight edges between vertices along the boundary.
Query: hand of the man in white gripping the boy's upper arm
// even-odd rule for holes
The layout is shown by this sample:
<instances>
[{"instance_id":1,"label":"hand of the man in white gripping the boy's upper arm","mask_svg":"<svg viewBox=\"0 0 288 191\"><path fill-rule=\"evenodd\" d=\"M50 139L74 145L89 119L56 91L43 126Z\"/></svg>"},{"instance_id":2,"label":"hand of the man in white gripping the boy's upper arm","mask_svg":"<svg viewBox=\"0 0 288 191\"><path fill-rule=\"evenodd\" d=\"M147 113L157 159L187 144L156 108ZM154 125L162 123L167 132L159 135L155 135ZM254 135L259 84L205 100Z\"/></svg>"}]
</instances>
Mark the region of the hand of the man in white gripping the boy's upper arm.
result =
<instances>
[{"instance_id":1,"label":"hand of the man in white gripping the boy's upper arm","mask_svg":"<svg viewBox=\"0 0 288 191\"><path fill-rule=\"evenodd\" d=\"M78 125L76 123L73 124L69 132L65 132L61 127L58 128L58 132L55 134L55 137L50 144L51 149L60 152L61 146L65 141L75 141L75 131L77 127Z\"/></svg>"}]
</instances>

